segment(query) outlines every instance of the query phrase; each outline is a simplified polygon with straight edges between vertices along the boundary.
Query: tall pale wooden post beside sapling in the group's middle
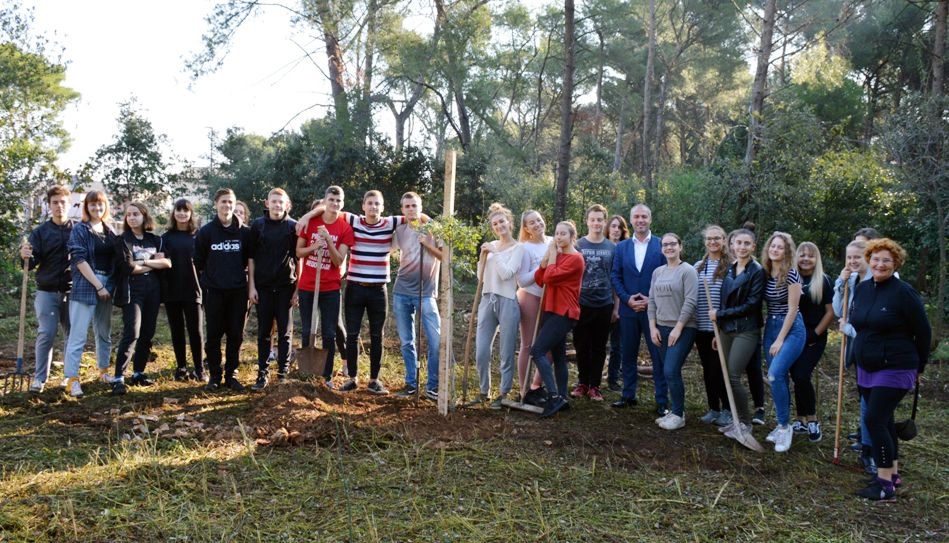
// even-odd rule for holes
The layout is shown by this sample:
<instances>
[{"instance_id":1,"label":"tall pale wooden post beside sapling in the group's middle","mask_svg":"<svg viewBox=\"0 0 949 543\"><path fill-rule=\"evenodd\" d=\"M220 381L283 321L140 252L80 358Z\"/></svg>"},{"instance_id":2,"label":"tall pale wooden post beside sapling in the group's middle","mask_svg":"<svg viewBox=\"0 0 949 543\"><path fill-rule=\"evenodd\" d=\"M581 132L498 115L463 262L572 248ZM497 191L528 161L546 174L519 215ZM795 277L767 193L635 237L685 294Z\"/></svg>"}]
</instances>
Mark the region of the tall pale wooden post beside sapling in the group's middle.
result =
<instances>
[{"instance_id":1,"label":"tall pale wooden post beside sapling in the group's middle","mask_svg":"<svg viewBox=\"0 0 949 543\"><path fill-rule=\"evenodd\" d=\"M454 149L445 151L445 200L442 216L455 215L455 160ZM448 415L455 397L455 359L452 356L452 299L451 243L446 243L438 282L438 312L441 315L441 344L438 346L438 413Z\"/></svg>"}]
</instances>

